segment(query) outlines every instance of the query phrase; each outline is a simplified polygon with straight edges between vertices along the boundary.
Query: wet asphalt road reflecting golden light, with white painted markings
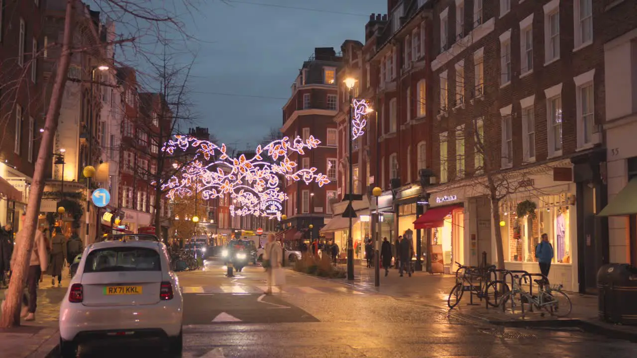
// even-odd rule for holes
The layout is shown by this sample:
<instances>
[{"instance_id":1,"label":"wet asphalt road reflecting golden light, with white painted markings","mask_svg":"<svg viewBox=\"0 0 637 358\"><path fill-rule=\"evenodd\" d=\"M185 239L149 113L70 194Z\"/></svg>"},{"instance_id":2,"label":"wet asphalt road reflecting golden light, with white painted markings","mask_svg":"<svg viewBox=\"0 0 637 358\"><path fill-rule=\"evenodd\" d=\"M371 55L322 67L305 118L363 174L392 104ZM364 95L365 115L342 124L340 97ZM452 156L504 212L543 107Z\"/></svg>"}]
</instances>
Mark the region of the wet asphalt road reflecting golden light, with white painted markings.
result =
<instances>
[{"instance_id":1,"label":"wet asphalt road reflecting golden light, with white painted markings","mask_svg":"<svg viewBox=\"0 0 637 358\"><path fill-rule=\"evenodd\" d=\"M510 329L343 282L290 272L262 294L262 268L233 278L222 264L180 274L184 358L636 357L637 345L580 331ZM157 345L83 347L82 357L157 356Z\"/></svg>"}]
</instances>

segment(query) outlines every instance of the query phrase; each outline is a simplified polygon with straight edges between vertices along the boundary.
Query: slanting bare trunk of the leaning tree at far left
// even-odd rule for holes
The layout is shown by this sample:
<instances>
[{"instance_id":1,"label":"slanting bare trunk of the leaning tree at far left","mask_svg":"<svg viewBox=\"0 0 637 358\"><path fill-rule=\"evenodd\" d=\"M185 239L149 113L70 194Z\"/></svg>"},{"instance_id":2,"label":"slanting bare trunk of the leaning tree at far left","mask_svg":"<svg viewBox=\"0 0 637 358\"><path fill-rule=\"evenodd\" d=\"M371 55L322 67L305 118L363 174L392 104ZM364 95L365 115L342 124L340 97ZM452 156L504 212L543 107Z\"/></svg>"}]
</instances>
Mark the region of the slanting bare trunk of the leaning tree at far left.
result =
<instances>
[{"instance_id":1,"label":"slanting bare trunk of the leaning tree at far left","mask_svg":"<svg viewBox=\"0 0 637 358\"><path fill-rule=\"evenodd\" d=\"M20 306L22 304L22 292L26 280L26 273L29 269L29 261L33 250L33 241L36 230L38 229L38 213L42 192L45 186L45 170L47 164L51 161L53 148L53 140L57 124L60 117L60 108L62 106L62 96L64 96L64 87L71 62L71 44L73 41L74 15L76 0L66 1L66 18L64 20L64 38L62 39L62 52L57 64L57 74L51 92L51 99L48 104L47 117L45 120L44 132L38 150L38 160L36 161L33 173L33 181L31 183L31 192L29 193L29 201L27 204L27 213L24 220L24 227L20 231L22 233L22 241L16 248L15 265L13 266L13 276L9 289L5 294L5 304L3 305L2 321L0 326L3 328L20 326Z\"/></svg>"}]
</instances>

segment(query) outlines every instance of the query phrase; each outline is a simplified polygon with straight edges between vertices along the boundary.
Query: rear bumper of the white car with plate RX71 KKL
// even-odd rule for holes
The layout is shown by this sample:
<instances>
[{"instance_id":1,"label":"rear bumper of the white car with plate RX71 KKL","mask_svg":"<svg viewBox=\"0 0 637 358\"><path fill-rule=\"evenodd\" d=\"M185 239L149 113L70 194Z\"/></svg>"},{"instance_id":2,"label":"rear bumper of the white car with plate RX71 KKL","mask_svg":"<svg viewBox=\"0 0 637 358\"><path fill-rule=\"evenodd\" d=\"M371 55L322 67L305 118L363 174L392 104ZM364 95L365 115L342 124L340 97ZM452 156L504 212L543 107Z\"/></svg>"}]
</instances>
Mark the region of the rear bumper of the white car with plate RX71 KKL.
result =
<instances>
[{"instance_id":1,"label":"rear bumper of the white car with plate RX71 KKL","mask_svg":"<svg viewBox=\"0 0 637 358\"><path fill-rule=\"evenodd\" d=\"M176 298L176 297L175 297ZM135 336L178 336L182 330L182 304L162 301L147 306L84 306L82 303L62 303L60 337L65 341L82 340L109 331L140 331Z\"/></svg>"}]
</instances>

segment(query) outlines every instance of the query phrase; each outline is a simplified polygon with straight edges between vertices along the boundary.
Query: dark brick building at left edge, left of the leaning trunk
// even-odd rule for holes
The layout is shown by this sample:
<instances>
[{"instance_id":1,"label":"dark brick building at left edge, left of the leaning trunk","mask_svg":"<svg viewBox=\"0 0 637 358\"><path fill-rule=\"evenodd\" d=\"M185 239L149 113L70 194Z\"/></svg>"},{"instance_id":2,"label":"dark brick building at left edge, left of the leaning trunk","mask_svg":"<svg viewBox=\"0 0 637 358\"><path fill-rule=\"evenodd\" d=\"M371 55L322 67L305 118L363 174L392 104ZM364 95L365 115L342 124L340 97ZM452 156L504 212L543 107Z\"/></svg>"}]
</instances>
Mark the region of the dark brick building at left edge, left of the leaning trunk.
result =
<instances>
[{"instance_id":1,"label":"dark brick building at left edge, left of the leaning trunk","mask_svg":"<svg viewBox=\"0 0 637 358\"><path fill-rule=\"evenodd\" d=\"M18 229L44 124L43 23L46 1L3 1L0 16L0 224ZM34 55L35 54L35 55Z\"/></svg>"}]
</instances>

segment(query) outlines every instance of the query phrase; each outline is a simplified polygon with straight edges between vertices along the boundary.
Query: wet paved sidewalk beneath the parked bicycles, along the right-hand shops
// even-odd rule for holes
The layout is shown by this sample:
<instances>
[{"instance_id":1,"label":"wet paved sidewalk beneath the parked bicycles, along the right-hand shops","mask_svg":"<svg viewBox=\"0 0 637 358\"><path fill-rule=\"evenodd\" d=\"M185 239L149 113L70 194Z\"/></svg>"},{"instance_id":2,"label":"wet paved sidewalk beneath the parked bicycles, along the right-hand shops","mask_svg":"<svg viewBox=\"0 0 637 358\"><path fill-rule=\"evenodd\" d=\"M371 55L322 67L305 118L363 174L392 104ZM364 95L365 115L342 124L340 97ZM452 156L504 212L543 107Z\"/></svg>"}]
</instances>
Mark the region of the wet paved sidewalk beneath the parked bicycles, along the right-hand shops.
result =
<instances>
[{"instance_id":1,"label":"wet paved sidewalk beneath the parked bicycles, along the right-hand shops","mask_svg":"<svg viewBox=\"0 0 637 358\"><path fill-rule=\"evenodd\" d=\"M435 306L440 310L448 311L451 315L457 315L476 323L517 327L579 327L591 333L637 341L637 326L609 324L599 320L598 297L593 295L568 292L573 303L573 310L568 317L562 319L556 319L548 314L541 315L540 311L527 311L525 317L522 317L519 306L514 312L510 309L503 312L501 308L486 308L485 301L480 301L476 297L473 301L476 305L471 306L469 305L468 292L464 293L461 303L453 310L449 310L447 297L455 285L454 275L431 275L416 272L412 277L408 277L408 275L400 277L397 269L390 269L389 275L385 277L385 272L381 269L380 286L375 287L373 268L357 266L354 271L354 281L343 280L345 283L359 289L387 294L403 301ZM534 287L534 289L536 288ZM527 308L526 305L525 309Z\"/></svg>"}]
</instances>

